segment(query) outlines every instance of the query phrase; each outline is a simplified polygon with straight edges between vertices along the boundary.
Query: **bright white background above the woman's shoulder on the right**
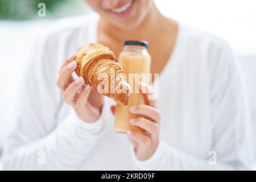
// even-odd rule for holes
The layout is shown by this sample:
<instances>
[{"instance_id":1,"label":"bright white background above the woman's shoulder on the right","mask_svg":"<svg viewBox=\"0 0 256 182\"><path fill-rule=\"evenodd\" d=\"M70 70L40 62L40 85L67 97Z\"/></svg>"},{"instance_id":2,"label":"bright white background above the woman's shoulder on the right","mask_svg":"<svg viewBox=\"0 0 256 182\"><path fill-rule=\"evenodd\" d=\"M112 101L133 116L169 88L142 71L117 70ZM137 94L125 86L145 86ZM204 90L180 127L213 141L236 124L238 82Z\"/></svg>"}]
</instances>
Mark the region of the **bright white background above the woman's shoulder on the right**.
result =
<instances>
[{"instance_id":1,"label":"bright white background above the woman's shoulder on the right","mask_svg":"<svg viewBox=\"0 0 256 182\"><path fill-rule=\"evenodd\" d=\"M213 32L238 54L256 55L255 0L156 0L164 15Z\"/></svg>"}]
</instances>

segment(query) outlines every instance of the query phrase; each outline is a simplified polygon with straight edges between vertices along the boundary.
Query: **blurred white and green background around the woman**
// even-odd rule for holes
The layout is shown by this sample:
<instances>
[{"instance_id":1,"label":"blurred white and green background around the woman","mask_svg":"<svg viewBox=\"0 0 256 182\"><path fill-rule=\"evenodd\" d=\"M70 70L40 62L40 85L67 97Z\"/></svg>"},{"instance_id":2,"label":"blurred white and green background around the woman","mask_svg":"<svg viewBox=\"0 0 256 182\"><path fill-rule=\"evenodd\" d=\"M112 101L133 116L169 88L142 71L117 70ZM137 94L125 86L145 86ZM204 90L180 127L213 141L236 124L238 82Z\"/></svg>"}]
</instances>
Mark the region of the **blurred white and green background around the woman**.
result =
<instances>
[{"instance_id":1,"label":"blurred white and green background around the woman","mask_svg":"<svg viewBox=\"0 0 256 182\"><path fill-rule=\"evenodd\" d=\"M46 5L46 16L38 14L42 8L39 3ZM256 1L155 0L155 3L164 15L212 32L232 46L245 72L256 138ZM14 126L19 86L28 52L38 35L60 18L91 11L82 0L0 0L0 153ZM256 151L256 140L254 143Z\"/></svg>"}]
</instances>

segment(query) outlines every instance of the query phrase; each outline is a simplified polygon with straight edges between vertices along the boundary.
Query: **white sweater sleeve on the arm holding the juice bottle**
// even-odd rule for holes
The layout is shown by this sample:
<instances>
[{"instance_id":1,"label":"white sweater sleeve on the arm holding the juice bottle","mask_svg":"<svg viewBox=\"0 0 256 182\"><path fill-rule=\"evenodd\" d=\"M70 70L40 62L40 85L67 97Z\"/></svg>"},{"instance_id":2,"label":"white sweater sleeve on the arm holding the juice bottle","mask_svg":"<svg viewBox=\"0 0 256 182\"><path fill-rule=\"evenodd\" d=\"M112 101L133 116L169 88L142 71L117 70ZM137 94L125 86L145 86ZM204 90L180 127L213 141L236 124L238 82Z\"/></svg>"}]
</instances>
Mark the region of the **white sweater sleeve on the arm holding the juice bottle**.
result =
<instances>
[{"instance_id":1,"label":"white sweater sleeve on the arm holding the juice bottle","mask_svg":"<svg viewBox=\"0 0 256 182\"><path fill-rule=\"evenodd\" d=\"M254 157L250 114L240 66L228 46L217 57L209 71L213 151L209 151L209 156L193 156L161 141L154 155L146 161L137 160L132 151L137 169L251 169Z\"/></svg>"}]
</instances>

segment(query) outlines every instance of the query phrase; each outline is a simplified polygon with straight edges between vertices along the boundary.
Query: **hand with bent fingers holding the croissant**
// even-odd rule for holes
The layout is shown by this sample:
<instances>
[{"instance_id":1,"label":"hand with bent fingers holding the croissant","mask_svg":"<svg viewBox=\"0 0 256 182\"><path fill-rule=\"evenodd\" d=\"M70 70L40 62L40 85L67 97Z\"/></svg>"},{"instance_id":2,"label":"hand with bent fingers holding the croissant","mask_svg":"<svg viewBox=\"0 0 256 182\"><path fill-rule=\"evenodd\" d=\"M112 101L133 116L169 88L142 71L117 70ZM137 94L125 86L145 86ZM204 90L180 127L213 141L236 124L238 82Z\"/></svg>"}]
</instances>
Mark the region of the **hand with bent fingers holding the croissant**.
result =
<instances>
[{"instance_id":1,"label":"hand with bent fingers holding the croissant","mask_svg":"<svg viewBox=\"0 0 256 182\"><path fill-rule=\"evenodd\" d=\"M63 100L75 109L76 114L84 122L94 122L101 115L103 96L97 89L84 83L84 78L76 80L72 73L77 68L75 55L69 56L61 65L57 86L63 91Z\"/></svg>"}]
</instances>

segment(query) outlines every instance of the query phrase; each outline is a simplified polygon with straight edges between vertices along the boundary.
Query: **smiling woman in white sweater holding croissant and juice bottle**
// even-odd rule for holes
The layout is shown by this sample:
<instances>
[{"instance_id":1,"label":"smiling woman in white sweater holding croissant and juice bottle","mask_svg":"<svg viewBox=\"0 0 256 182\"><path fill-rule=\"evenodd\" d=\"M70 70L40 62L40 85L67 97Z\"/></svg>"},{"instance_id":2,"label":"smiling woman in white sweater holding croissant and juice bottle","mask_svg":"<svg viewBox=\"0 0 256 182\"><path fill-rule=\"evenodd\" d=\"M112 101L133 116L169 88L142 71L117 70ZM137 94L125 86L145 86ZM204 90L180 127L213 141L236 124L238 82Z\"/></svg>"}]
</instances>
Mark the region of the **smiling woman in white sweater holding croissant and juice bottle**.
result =
<instances>
[{"instance_id":1,"label":"smiling woman in white sweater holding croissant and juice bottle","mask_svg":"<svg viewBox=\"0 0 256 182\"><path fill-rule=\"evenodd\" d=\"M4 168L250 169L247 101L230 48L164 17L153 0L86 2L100 16L62 20L35 46ZM115 133L113 101L74 78L75 56L66 59L89 42L119 55L131 39L150 43L151 73L160 73L157 104L130 107L143 115L130 121L143 135Z\"/></svg>"}]
</instances>

